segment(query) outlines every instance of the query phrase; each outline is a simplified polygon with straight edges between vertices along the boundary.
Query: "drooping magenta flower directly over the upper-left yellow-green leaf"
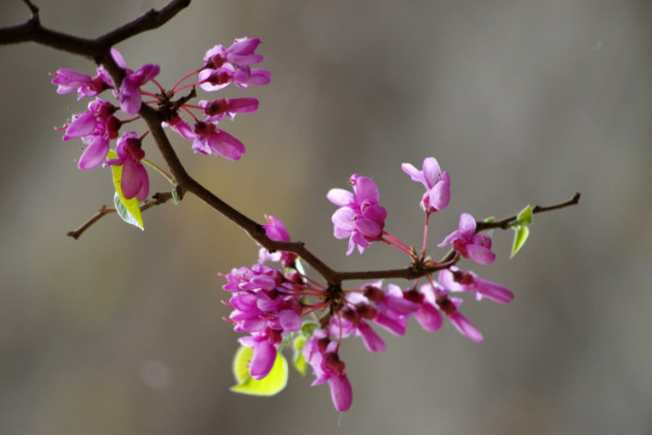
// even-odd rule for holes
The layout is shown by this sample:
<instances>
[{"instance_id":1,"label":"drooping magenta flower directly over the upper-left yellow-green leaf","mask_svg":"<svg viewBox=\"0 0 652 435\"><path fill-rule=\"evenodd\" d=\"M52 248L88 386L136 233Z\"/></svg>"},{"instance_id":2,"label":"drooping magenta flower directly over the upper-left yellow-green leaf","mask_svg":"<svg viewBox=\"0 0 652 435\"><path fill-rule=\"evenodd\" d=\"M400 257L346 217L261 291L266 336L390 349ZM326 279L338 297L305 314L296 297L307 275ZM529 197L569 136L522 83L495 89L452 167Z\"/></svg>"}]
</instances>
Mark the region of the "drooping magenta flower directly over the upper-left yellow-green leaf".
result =
<instances>
[{"instance_id":1,"label":"drooping magenta flower directly over the upper-left yellow-green leaf","mask_svg":"<svg viewBox=\"0 0 652 435\"><path fill-rule=\"evenodd\" d=\"M141 162L145 151L138 135L135 132L124 133L117 139L115 152L117 159L108 160L104 166L122 165L121 188L124 197L136 197L139 201L145 201L149 195L149 178Z\"/></svg>"}]
</instances>

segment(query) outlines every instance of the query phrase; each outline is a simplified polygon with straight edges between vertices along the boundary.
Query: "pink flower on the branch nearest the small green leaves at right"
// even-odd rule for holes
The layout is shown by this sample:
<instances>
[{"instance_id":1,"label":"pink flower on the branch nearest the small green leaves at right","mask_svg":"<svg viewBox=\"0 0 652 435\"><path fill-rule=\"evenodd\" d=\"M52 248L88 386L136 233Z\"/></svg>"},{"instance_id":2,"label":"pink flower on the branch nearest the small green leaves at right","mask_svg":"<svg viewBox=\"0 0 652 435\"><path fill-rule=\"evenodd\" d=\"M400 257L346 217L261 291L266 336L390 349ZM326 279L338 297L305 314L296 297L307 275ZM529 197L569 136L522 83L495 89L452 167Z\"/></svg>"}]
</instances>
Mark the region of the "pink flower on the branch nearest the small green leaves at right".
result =
<instances>
[{"instance_id":1,"label":"pink flower on the branch nearest the small green leaves at right","mask_svg":"<svg viewBox=\"0 0 652 435\"><path fill-rule=\"evenodd\" d=\"M496 253L491 252L491 238L485 234L475 234L476 222L468 213L460 216L459 228L452 232L437 246L440 248L453 244L453 249L464 258L471 258L476 263L491 264Z\"/></svg>"}]
</instances>

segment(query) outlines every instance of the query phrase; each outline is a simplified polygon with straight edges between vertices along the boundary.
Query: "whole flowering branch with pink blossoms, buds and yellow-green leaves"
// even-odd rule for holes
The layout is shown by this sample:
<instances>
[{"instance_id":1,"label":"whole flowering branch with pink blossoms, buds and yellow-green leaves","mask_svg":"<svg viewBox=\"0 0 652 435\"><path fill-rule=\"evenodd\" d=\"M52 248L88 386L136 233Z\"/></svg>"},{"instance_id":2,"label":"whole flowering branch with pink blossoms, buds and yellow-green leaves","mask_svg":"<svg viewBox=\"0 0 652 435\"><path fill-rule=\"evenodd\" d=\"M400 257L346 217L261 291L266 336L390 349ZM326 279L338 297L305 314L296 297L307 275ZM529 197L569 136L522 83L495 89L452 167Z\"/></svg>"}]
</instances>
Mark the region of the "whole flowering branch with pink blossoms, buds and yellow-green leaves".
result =
<instances>
[{"instance_id":1,"label":"whole flowering branch with pink blossoms, buds and yellow-green leaves","mask_svg":"<svg viewBox=\"0 0 652 435\"><path fill-rule=\"evenodd\" d=\"M253 67L263 61L263 55L256 52L259 38L236 39L228 47L214 46L205 52L198 69L166 89L156 80L159 65L146 64L130 70L114 46L161 26L187 7L189 0L171 0L160 11L149 11L95 40L42 27L38 8L29 0L24 2L33 17L24 25L0 29L0 45L36 41L85 55L100 64L96 75L61 69L52 74L52 84L58 86L59 94L76 92L79 100L91 99L88 110L74 114L58 129L65 132L64 141L80 139L84 142L85 149L77 161L80 170L100 165L112 169L113 210L127 223L142 228L140 213L152 204L148 202L149 166L174 186L170 192L154 195L155 203L168 198L178 201L185 192L191 192L261 245L255 264L224 275L227 282L224 290L230 294L225 303L233 309L227 321L236 332L247 334L239 338L242 347L234 360L237 381L234 391L268 396L281 390L288 377L288 364L281 351L289 347L293 349L296 369L304 374L310 365L315 375L313 385L328 383L336 410L344 412L353 400L347 365L340 358L344 338L360 337L371 352L385 351L386 344L373 326L402 336L409 319L414 318L428 332L439 330L448 319L465 337L482 340L480 331L461 313L459 296L468 293L477 300L487 298L506 303L514 295L469 270L460 269L460 261L493 263L491 238L484 233L491 228L514 231L514 256L527 240L534 214L573 206L579 200L576 194L573 199L550 207L527 206L517 215L501 221L476 221L471 214L462 213L457 229L438 245L440 248L450 245L452 250L435 260L428 254L430 216L444 210L451 200L451 177L439 162L428 157L421 169L402 164L403 171L425 188L419 200L425 215L421 248L387 232L388 211L380 204L375 182L353 174L349 178L352 191L334 188L326 195L338 207L331 216L334 236L348 239L348 256L354 250L363 253L371 245L381 243L403 252L409 265L386 271L335 271L304 244L292 240L277 217L265 216L267 223L258 224L190 177L164 130L168 128L191 141L197 153L239 160L246 151L244 145L218 125L225 117L233 121L237 114L256 111L258 99L206 99L196 104L191 101L197 98L198 87L213 92L230 84L239 88L268 84L269 72ZM146 85L155 90L146 90ZM181 91L186 91L185 95L181 96ZM115 103L100 98L102 94L111 94ZM146 121L147 132L139 134L125 128L140 117ZM165 160L166 170L145 159L143 139L149 134ZM78 237L108 210L103 206L87 224L72 232L73 237ZM312 277L304 264L312 268ZM384 282L385 278L402 278L409 283L399 286ZM347 281L365 283L346 286Z\"/></svg>"}]
</instances>

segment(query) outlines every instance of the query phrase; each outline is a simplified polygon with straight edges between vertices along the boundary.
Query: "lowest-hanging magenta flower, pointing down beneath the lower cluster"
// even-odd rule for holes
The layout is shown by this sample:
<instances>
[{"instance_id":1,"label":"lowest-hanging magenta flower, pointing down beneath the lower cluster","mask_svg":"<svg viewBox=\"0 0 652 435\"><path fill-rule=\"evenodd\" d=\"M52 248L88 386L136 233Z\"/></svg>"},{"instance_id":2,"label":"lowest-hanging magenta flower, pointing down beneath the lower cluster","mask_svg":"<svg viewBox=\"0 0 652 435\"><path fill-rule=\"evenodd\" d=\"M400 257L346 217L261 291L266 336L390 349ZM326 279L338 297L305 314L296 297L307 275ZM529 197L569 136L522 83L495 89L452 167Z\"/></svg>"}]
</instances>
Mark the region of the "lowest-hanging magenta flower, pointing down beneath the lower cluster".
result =
<instances>
[{"instance_id":1,"label":"lowest-hanging magenta flower, pointing down beneath the lower cluster","mask_svg":"<svg viewBox=\"0 0 652 435\"><path fill-rule=\"evenodd\" d=\"M338 412L347 412L353 402L347 364L339 359L338 345L330 341L322 330L303 345L303 358L311 365L316 378L312 385L328 382L333 405Z\"/></svg>"}]
</instances>

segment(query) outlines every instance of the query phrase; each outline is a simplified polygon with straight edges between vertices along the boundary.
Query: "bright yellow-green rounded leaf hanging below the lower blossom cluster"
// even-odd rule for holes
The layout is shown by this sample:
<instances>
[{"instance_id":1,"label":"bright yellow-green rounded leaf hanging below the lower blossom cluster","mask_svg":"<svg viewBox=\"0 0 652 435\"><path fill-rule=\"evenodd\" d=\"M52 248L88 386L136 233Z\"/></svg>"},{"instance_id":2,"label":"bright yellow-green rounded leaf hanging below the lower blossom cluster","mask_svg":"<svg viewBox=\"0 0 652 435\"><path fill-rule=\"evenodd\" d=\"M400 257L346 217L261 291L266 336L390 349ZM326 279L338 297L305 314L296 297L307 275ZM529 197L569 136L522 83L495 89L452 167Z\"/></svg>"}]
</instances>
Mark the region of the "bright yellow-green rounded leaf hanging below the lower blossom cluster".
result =
<instances>
[{"instance_id":1,"label":"bright yellow-green rounded leaf hanging below the lower blossom cluster","mask_svg":"<svg viewBox=\"0 0 652 435\"><path fill-rule=\"evenodd\" d=\"M288 361L285 357L277 352L269 374L258 381L249 374L252 358L252 348L241 346L238 349L234 358L234 376L238 385L233 386L230 390L251 396L274 396L280 393L288 383Z\"/></svg>"}]
</instances>

